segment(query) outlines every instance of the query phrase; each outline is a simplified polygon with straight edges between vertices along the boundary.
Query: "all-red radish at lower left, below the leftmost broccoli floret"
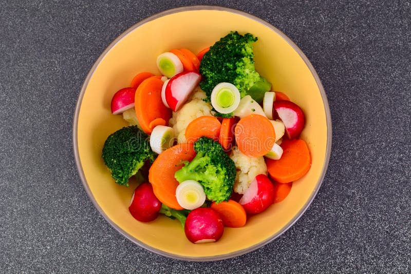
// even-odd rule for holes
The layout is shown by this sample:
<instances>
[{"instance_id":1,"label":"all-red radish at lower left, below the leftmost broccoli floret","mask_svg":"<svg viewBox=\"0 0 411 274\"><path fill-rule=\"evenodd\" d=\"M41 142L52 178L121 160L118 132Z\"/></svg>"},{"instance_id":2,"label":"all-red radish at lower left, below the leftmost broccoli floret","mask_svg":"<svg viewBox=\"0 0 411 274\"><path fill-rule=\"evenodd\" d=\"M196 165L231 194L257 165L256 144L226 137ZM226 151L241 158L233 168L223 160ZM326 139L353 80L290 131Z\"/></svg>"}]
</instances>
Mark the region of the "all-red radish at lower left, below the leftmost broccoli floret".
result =
<instances>
[{"instance_id":1,"label":"all-red radish at lower left, below the leftmost broccoli floret","mask_svg":"<svg viewBox=\"0 0 411 274\"><path fill-rule=\"evenodd\" d=\"M134 190L128 210L140 222L150 222L158 217L161 202L154 195L150 183L142 183Z\"/></svg>"}]
</instances>

